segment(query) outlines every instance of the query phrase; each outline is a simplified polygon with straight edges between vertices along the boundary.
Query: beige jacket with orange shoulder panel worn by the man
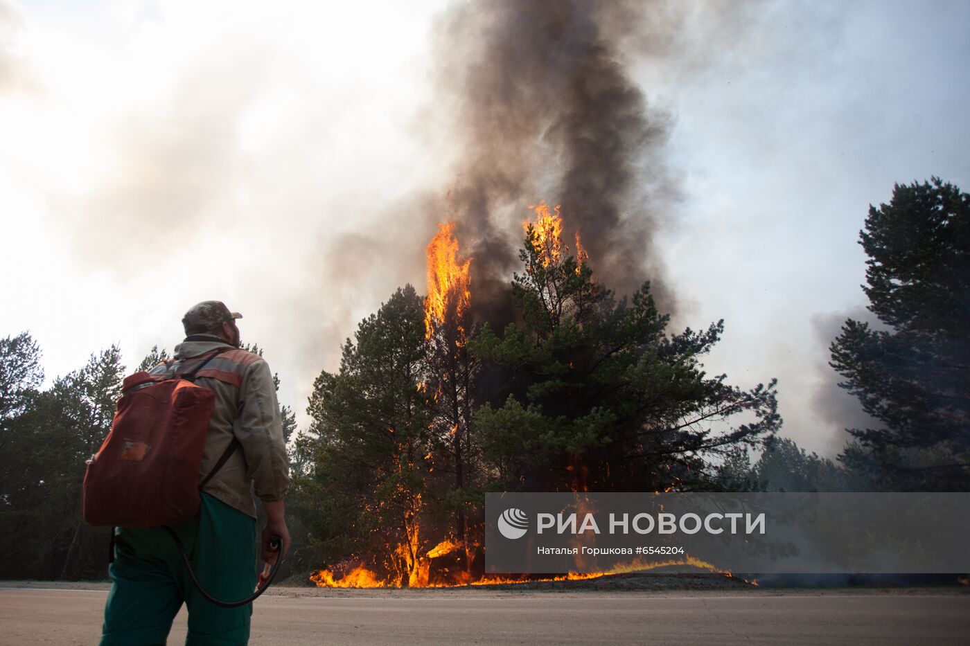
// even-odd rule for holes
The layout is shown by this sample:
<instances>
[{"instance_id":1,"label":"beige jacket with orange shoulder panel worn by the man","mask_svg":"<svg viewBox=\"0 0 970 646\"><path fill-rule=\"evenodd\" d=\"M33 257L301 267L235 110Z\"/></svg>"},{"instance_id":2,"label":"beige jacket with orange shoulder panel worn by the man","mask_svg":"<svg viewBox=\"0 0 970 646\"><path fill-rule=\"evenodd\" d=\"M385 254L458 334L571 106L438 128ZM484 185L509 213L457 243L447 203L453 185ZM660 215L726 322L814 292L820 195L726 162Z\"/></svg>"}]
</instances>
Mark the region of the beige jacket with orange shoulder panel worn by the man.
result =
<instances>
[{"instance_id":1,"label":"beige jacket with orange shoulder panel worn by the man","mask_svg":"<svg viewBox=\"0 0 970 646\"><path fill-rule=\"evenodd\" d=\"M176 346L175 361L160 364L151 374L191 371L193 357L218 347L216 339L186 340ZM218 375L219 378L216 378ZM216 356L195 380L215 393L215 408L199 474L201 482L232 442L239 439L229 461L206 484L204 492L256 517L252 491L263 501L280 501L289 488L289 460L270 367L259 355L233 348Z\"/></svg>"}]
</instances>

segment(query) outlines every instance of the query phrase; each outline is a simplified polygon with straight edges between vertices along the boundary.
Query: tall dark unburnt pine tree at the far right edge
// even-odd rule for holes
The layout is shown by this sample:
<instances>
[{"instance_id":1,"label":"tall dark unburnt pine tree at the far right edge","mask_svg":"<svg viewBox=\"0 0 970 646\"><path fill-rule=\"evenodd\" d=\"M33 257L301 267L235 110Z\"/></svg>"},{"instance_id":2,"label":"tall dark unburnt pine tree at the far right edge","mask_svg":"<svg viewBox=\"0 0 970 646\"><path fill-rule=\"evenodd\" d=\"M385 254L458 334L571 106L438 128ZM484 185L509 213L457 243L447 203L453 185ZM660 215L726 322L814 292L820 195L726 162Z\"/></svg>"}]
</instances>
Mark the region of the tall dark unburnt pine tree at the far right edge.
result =
<instances>
[{"instance_id":1,"label":"tall dark unburnt pine tree at the far right edge","mask_svg":"<svg viewBox=\"0 0 970 646\"><path fill-rule=\"evenodd\" d=\"M869 310L885 329L848 319L830 365L882 422L852 429L849 467L891 489L970 486L970 195L939 178L896 184L869 208L859 243Z\"/></svg>"}]
</instances>

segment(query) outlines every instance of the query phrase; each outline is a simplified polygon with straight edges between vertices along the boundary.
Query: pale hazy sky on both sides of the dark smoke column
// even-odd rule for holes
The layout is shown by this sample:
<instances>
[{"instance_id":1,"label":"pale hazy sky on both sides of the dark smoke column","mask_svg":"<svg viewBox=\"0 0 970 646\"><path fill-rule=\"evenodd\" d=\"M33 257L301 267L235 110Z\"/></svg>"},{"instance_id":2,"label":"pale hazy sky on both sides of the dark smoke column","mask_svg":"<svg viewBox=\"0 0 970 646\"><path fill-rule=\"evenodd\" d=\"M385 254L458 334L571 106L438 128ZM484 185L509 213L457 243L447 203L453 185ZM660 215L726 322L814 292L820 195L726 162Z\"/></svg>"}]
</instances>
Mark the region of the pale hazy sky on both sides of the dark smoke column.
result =
<instances>
[{"instance_id":1,"label":"pale hazy sky on both sides of the dark smoke column","mask_svg":"<svg viewBox=\"0 0 970 646\"><path fill-rule=\"evenodd\" d=\"M442 73L456 4L0 0L0 337L29 330L49 379L112 343L133 368L222 300L306 428L357 322L424 291L469 154ZM970 4L630 6L645 26L614 54L667 124L643 262L671 327L725 319L706 369L777 377L782 435L834 456L865 423L826 362L867 315L869 205L970 190Z\"/></svg>"}]
</instances>

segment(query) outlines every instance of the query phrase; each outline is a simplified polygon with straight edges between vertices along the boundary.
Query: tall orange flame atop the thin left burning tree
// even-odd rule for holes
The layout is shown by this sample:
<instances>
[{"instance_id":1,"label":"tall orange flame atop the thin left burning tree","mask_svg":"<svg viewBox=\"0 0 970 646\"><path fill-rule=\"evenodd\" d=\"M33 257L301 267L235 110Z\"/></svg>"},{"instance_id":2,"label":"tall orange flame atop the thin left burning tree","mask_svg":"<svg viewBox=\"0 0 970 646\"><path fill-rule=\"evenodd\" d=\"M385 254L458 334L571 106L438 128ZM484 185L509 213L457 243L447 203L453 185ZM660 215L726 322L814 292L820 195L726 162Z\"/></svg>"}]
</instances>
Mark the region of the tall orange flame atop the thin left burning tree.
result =
<instances>
[{"instance_id":1,"label":"tall orange flame atop the thin left burning tree","mask_svg":"<svg viewBox=\"0 0 970 646\"><path fill-rule=\"evenodd\" d=\"M458 321L459 343L465 339L461 326L462 315L471 301L469 267L471 259L458 262L458 241L455 223L437 225L437 233L428 244L428 296L425 298L425 338L435 336L436 328L449 316L454 307Z\"/></svg>"}]
</instances>

